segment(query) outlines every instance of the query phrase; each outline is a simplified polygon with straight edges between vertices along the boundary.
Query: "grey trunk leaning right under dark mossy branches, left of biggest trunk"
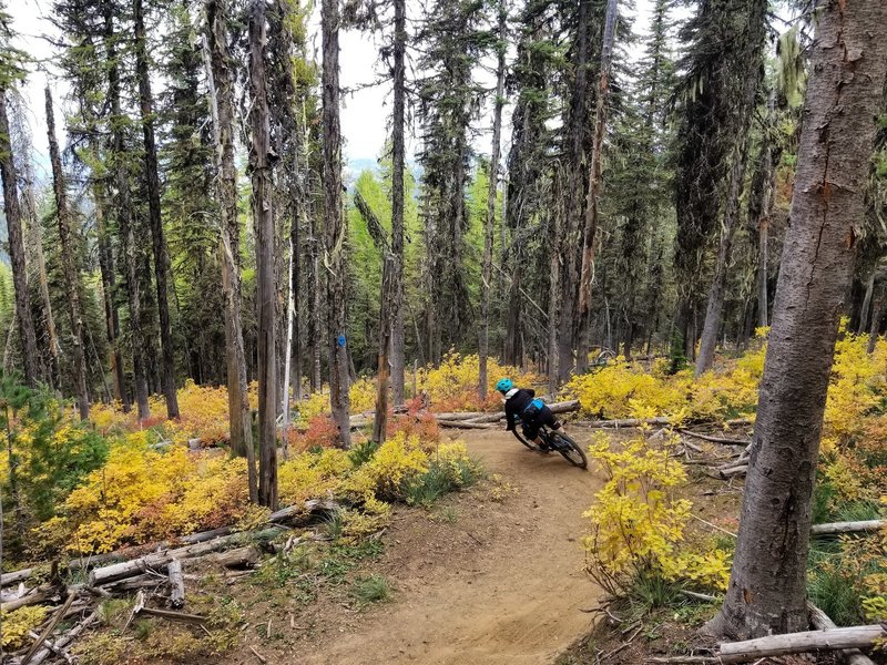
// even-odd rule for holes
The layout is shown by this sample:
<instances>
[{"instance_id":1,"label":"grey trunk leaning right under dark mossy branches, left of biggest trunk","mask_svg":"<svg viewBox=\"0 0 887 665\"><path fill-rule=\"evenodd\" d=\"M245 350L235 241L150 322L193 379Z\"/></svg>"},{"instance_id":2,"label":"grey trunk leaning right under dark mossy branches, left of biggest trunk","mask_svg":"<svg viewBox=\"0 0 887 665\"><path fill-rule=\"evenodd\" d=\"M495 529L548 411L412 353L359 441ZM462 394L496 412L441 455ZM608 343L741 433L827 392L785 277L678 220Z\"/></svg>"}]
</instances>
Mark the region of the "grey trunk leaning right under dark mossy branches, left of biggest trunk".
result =
<instances>
[{"instance_id":1,"label":"grey trunk leaning right under dark mossy branches, left of biggest trunk","mask_svg":"<svg viewBox=\"0 0 887 665\"><path fill-rule=\"evenodd\" d=\"M748 88L752 88L748 84ZM702 326L702 341L700 342L700 354L696 358L695 376L700 377L711 369L714 362L714 350L717 346L717 332L721 330L723 320L724 296L727 280L727 262L730 250L733 246L733 234L738 225L740 217L740 196L742 195L743 182L745 180L745 149L735 156L731 177L730 191L727 192L727 204L724 211L724 225L721 229L721 246L717 250L717 260L714 266L714 277L708 289L708 304L705 309L705 323Z\"/></svg>"}]
</instances>

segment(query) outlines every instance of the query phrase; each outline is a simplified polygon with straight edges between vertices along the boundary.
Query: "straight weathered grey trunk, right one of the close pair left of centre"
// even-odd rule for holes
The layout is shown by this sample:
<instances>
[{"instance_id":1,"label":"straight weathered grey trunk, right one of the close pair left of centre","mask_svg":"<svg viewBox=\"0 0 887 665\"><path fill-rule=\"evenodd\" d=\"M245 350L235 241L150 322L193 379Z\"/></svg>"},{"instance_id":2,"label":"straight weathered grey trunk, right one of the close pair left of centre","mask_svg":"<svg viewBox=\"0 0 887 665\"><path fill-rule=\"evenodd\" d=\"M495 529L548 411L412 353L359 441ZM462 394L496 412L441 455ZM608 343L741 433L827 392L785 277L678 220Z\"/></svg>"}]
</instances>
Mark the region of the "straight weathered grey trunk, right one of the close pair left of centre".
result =
<instances>
[{"instance_id":1,"label":"straight weathered grey trunk, right one of the close pair left of centre","mask_svg":"<svg viewBox=\"0 0 887 665\"><path fill-rule=\"evenodd\" d=\"M272 147L265 75L265 0L249 9L249 165L256 224L258 300L258 502L277 508L277 359L275 347L274 214Z\"/></svg>"}]
</instances>

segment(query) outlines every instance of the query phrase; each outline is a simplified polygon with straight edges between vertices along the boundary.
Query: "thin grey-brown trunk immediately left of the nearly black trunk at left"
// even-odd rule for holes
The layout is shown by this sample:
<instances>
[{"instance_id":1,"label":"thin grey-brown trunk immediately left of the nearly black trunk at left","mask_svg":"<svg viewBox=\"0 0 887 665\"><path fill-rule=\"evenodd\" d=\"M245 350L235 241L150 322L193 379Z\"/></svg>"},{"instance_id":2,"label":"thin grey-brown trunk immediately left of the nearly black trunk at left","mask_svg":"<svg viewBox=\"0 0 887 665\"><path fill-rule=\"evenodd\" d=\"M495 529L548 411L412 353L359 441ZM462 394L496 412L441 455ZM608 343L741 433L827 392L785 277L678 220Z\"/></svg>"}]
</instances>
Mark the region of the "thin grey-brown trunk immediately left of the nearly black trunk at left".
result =
<instances>
[{"instance_id":1,"label":"thin grey-brown trunk immediately left of the nearly black trunk at left","mask_svg":"<svg viewBox=\"0 0 887 665\"><path fill-rule=\"evenodd\" d=\"M135 383L135 403L139 418L151 416L147 405L147 375L145 371L145 340L142 332L142 295L139 286L139 269L135 257L135 237L133 233L132 201L130 196L130 177L126 168L126 141L124 116L120 101L120 65L116 54L116 34L114 32L114 14L111 3L104 7L104 38L108 43L108 99L111 105L111 152L114 161L114 180L116 183L118 226L122 241L123 262L126 274L126 299L130 308L130 341L132 345L133 381Z\"/></svg>"}]
</instances>

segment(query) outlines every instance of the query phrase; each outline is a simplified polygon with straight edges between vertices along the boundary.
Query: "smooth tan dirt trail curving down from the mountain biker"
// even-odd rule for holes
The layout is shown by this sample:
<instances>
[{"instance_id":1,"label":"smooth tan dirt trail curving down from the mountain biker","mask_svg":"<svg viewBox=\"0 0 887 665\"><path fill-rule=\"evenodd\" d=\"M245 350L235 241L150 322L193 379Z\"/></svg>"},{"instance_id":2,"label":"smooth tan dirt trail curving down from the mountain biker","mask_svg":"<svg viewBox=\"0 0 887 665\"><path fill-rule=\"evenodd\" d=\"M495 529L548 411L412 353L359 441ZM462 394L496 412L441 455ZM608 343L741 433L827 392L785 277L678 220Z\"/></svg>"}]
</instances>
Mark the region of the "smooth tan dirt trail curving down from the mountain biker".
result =
<instances>
[{"instance_id":1,"label":"smooth tan dirt trail curving down from the mountain biker","mask_svg":"<svg viewBox=\"0 0 887 665\"><path fill-rule=\"evenodd\" d=\"M459 438L517 493L479 507L460 495L451 524L392 524L383 565L396 601L299 649L295 662L536 665L588 632L591 615L580 608L598 591L582 573L579 538L600 479L523 449L510 433Z\"/></svg>"}]
</instances>

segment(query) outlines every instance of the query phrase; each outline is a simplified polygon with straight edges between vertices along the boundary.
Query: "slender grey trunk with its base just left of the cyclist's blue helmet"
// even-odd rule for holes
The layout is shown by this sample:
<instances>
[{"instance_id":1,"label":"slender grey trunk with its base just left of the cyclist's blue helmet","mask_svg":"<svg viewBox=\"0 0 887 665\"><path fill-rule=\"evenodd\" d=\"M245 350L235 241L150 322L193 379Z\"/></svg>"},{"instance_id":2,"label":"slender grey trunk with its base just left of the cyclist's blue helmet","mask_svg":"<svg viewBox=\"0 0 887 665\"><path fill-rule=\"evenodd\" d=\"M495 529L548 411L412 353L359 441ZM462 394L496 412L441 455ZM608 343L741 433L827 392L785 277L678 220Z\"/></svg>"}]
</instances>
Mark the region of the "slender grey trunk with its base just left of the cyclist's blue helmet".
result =
<instances>
[{"instance_id":1,"label":"slender grey trunk with its base just left of the cyclist's blue helmet","mask_svg":"<svg viewBox=\"0 0 887 665\"><path fill-rule=\"evenodd\" d=\"M478 395L483 401L487 398L487 354L490 346L490 282L492 280L492 238L496 226L496 193L499 185L499 150L502 134L502 108L506 103L506 49L508 48L507 21L508 11L504 2L499 3L498 42L496 44L496 100L492 116L492 149L490 151L489 186L487 187L487 217L483 223L483 276L480 296L480 339L478 357L480 364Z\"/></svg>"}]
</instances>

